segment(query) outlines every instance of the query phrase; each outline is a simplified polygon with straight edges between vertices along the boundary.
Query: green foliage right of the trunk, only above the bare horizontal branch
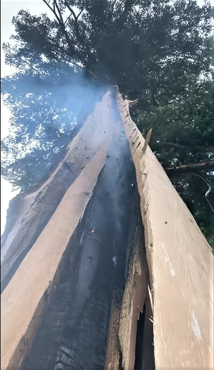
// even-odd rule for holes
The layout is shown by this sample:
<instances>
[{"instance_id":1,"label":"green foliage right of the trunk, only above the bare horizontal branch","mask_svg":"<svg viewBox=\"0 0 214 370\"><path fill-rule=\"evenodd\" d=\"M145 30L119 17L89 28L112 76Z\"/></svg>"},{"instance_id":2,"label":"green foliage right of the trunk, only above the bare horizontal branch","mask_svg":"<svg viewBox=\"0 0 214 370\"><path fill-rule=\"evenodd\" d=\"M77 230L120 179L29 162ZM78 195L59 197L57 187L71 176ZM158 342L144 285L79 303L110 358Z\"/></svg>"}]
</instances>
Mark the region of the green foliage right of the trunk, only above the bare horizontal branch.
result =
<instances>
[{"instance_id":1,"label":"green foliage right of the trunk, only above the bare horizontal branch","mask_svg":"<svg viewBox=\"0 0 214 370\"><path fill-rule=\"evenodd\" d=\"M166 168L214 160L214 82L191 76L190 83L186 96L137 120L141 131L153 129L150 145Z\"/></svg>"}]
</instances>

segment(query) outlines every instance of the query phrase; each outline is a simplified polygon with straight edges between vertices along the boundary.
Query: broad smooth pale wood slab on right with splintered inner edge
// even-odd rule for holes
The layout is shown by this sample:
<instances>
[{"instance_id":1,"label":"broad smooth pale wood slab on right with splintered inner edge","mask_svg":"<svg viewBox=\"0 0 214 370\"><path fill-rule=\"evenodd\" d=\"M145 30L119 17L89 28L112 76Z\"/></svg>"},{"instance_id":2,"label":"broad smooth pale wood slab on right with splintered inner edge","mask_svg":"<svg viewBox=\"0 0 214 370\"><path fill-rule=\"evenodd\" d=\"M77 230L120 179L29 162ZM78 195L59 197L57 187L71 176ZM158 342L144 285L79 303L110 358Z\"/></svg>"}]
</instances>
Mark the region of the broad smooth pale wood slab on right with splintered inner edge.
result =
<instances>
[{"instance_id":1,"label":"broad smooth pale wood slab on right with splintered inner edge","mask_svg":"<svg viewBox=\"0 0 214 370\"><path fill-rule=\"evenodd\" d=\"M117 95L129 139L145 228L157 369L213 369L211 248ZM128 369L128 361L124 362Z\"/></svg>"}]
</instances>

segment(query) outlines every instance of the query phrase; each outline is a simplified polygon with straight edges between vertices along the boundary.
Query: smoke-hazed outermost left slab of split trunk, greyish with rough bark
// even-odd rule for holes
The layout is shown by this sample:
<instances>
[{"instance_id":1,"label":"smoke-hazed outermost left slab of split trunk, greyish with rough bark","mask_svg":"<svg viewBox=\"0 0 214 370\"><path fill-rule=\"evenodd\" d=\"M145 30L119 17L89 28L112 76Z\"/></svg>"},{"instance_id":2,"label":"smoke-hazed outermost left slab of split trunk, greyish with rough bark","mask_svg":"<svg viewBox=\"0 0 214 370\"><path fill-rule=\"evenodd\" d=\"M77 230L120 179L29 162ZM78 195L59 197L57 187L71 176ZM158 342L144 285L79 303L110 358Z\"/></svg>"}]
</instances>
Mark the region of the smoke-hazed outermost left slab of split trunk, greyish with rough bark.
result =
<instances>
[{"instance_id":1,"label":"smoke-hazed outermost left slab of split trunk, greyish with rough bark","mask_svg":"<svg viewBox=\"0 0 214 370\"><path fill-rule=\"evenodd\" d=\"M69 186L113 129L115 121L112 119L111 94L107 92L69 143L64 158L50 176L36 191L21 197L17 219L1 243L1 292L44 229ZM64 165L65 161L67 166Z\"/></svg>"}]
</instances>

